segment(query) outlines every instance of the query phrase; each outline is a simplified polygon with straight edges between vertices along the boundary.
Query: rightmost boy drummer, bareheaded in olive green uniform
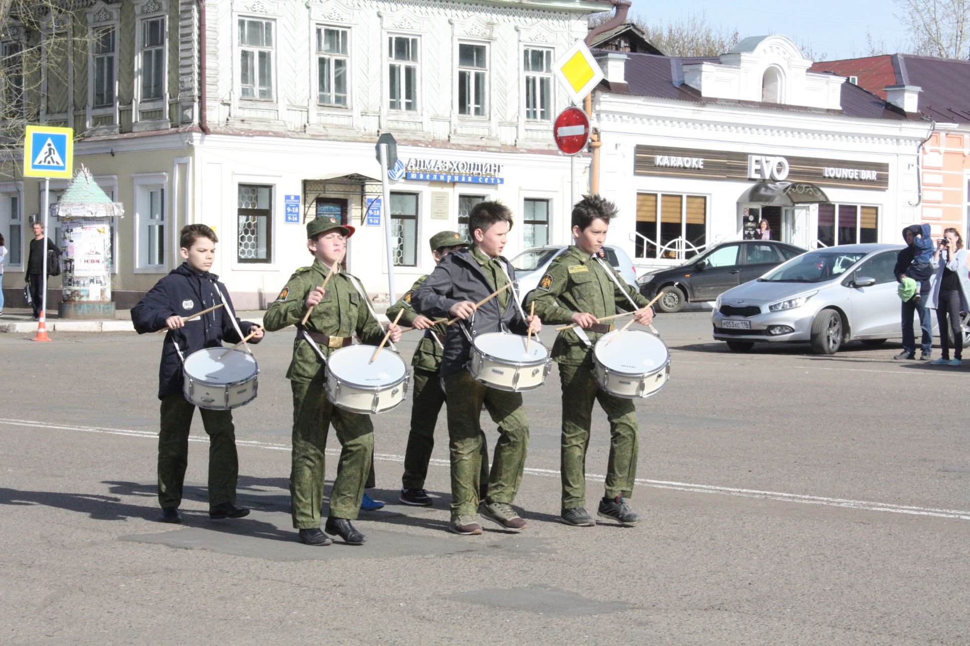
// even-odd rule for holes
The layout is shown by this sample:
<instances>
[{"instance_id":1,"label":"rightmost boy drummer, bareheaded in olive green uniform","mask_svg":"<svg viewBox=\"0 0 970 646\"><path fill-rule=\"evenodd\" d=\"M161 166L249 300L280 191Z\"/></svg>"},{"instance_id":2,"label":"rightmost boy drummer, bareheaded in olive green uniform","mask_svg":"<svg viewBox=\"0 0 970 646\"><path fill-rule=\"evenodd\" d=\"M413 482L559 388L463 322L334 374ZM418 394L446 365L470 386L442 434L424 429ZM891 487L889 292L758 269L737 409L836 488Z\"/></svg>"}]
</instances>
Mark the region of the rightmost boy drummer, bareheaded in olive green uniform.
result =
<instances>
[{"instance_id":1,"label":"rightmost boy drummer, bareheaded in olive green uniform","mask_svg":"<svg viewBox=\"0 0 970 646\"><path fill-rule=\"evenodd\" d=\"M550 263L529 299L543 321L577 323L581 328L560 332L552 348L563 386L562 520L575 527L596 525L585 508L586 449L594 400L606 413L610 426L606 491L599 501L598 515L624 525L640 520L625 500L632 494L636 477L636 411L630 399L609 394L593 378L593 345L613 328L612 323L599 323L600 317L631 311L633 301L640 308L633 315L636 323L646 325L654 318L653 310L646 307L647 300L603 260L606 231L616 213L616 206L598 195L577 202L572 209L575 244Z\"/></svg>"}]
</instances>

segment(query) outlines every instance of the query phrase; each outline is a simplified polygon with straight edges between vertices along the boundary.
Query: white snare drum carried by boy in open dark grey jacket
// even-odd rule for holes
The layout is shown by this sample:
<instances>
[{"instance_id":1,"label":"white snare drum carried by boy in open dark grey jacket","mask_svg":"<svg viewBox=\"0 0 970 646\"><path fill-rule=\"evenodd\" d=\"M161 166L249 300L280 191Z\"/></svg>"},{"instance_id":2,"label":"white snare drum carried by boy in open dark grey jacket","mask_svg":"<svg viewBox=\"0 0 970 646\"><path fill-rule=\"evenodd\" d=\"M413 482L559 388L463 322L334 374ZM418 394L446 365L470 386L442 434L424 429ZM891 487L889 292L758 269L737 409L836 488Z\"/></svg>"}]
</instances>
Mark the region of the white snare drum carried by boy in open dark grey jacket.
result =
<instances>
[{"instance_id":1,"label":"white snare drum carried by boy in open dark grey jacket","mask_svg":"<svg viewBox=\"0 0 970 646\"><path fill-rule=\"evenodd\" d=\"M526 352L526 337L490 332L475 337L469 372L476 382L499 390L532 390L545 382L552 359L549 350L533 339Z\"/></svg>"}]
</instances>

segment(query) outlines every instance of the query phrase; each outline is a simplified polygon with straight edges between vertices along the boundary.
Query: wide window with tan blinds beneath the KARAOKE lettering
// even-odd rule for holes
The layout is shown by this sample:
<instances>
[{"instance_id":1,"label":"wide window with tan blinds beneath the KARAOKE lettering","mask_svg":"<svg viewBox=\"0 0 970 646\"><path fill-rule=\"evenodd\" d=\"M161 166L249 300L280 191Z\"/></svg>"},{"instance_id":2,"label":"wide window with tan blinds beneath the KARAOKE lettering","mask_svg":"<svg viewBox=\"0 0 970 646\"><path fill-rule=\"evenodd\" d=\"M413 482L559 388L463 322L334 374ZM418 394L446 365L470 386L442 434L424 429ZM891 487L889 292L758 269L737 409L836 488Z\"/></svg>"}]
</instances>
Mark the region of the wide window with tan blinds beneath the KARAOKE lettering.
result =
<instances>
[{"instance_id":1,"label":"wide window with tan blinds beneath the KARAOKE lettering","mask_svg":"<svg viewBox=\"0 0 970 646\"><path fill-rule=\"evenodd\" d=\"M691 195L636 196L637 258L686 260L707 244L707 199Z\"/></svg>"}]
</instances>

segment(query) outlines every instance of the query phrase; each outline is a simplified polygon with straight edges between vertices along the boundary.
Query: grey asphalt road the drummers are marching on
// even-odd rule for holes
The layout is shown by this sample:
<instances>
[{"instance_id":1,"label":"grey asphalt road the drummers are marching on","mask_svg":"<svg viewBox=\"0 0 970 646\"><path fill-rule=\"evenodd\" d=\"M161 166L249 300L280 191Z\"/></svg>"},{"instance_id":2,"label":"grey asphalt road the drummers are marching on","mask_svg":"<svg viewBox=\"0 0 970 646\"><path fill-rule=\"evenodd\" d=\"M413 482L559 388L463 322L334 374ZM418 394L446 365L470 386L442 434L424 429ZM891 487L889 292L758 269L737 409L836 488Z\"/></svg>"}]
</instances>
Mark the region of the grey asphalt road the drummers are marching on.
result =
<instances>
[{"instance_id":1,"label":"grey asphalt road the drummers are marching on","mask_svg":"<svg viewBox=\"0 0 970 646\"><path fill-rule=\"evenodd\" d=\"M897 344L733 354L709 316L658 318L672 374L637 403L639 527L558 522L554 369L525 395L527 532L446 532L443 415L435 508L396 504L408 402L374 419L388 505L356 523L367 544L323 548L290 527L290 332L256 347L259 397L234 414L253 512L209 519L197 416L182 526L155 521L161 335L0 334L0 642L970 643L970 366ZM588 508L607 451L597 412Z\"/></svg>"}]
</instances>

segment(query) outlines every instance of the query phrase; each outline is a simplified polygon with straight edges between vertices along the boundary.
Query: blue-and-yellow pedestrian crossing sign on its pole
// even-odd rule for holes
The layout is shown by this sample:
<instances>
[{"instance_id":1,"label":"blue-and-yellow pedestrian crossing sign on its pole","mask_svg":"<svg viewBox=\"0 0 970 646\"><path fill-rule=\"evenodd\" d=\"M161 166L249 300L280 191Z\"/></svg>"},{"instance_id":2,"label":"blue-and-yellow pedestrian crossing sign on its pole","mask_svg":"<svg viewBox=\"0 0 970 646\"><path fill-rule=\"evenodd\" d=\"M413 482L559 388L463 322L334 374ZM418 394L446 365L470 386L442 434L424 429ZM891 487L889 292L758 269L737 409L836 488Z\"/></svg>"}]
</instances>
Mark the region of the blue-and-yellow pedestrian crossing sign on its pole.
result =
<instances>
[{"instance_id":1,"label":"blue-and-yellow pedestrian crossing sign on its pole","mask_svg":"<svg viewBox=\"0 0 970 646\"><path fill-rule=\"evenodd\" d=\"M49 126L27 126L23 138L23 176L44 177L44 237L48 237L50 178L71 178L74 166L74 129ZM48 245L44 245L44 270L41 277L41 316L38 317L34 341L49 341L48 313Z\"/></svg>"}]
</instances>

